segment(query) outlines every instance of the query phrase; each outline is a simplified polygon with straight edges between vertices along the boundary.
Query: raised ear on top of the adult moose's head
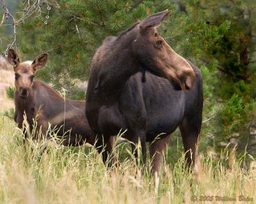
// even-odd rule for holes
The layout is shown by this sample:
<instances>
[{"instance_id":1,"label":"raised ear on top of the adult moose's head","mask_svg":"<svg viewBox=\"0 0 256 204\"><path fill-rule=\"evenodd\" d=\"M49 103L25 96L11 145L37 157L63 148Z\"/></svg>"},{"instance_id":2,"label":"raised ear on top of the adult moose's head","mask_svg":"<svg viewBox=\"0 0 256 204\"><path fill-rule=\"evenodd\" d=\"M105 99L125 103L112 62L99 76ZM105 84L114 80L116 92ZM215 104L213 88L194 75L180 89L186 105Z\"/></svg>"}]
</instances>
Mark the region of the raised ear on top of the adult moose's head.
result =
<instances>
[{"instance_id":1,"label":"raised ear on top of the adult moose's head","mask_svg":"<svg viewBox=\"0 0 256 204\"><path fill-rule=\"evenodd\" d=\"M150 29L151 27L159 27L159 25L161 25L164 22L164 20L168 17L169 14L170 11L165 10L150 15L150 17L147 17L144 20L142 20L140 23L141 33L145 33L147 29Z\"/></svg>"}]
</instances>

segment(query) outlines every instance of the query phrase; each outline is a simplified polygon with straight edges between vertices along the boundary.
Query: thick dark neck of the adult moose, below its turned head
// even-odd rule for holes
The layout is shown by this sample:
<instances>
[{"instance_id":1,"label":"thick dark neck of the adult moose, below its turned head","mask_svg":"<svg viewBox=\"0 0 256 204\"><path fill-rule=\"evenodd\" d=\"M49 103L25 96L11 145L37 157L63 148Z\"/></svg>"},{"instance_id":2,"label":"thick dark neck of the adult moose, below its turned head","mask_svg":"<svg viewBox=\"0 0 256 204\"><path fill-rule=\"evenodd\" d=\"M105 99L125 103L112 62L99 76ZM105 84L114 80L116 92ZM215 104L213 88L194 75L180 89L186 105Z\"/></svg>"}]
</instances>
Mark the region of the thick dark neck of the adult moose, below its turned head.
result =
<instances>
[{"instance_id":1,"label":"thick dark neck of the adult moose, below its turned head","mask_svg":"<svg viewBox=\"0 0 256 204\"><path fill-rule=\"evenodd\" d=\"M127 35L129 34L109 43L109 53L106 59L100 62L98 83L104 96L118 96L127 80L140 68L132 52L134 38Z\"/></svg>"}]
</instances>

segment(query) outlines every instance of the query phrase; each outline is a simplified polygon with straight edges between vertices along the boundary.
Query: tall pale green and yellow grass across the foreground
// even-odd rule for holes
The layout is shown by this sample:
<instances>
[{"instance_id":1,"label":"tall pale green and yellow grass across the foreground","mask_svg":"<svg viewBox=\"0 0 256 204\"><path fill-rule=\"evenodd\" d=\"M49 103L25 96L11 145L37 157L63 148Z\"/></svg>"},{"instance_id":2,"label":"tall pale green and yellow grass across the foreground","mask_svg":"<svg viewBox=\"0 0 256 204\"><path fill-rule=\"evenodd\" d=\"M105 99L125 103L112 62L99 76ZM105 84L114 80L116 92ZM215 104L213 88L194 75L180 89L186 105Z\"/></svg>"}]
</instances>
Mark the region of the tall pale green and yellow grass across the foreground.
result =
<instances>
[{"instance_id":1,"label":"tall pale green and yellow grass across the foreground","mask_svg":"<svg viewBox=\"0 0 256 204\"><path fill-rule=\"evenodd\" d=\"M29 142L24 148L22 133L14 122L0 116L0 203L204 203L213 196L250 197L256 201L256 169L230 170L227 155L214 160L200 155L196 170L184 170L184 155L173 164L168 158L161 176L142 173L127 154L127 145L116 149L118 169L108 169L94 147L62 147ZM129 152L129 151L128 151ZM149 164L148 164L149 165ZM193 196L193 197L192 197ZM208 197L211 199L211 197ZM222 202L221 202L222 203ZM225 203L225 202L223 202Z\"/></svg>"}]
</instances>

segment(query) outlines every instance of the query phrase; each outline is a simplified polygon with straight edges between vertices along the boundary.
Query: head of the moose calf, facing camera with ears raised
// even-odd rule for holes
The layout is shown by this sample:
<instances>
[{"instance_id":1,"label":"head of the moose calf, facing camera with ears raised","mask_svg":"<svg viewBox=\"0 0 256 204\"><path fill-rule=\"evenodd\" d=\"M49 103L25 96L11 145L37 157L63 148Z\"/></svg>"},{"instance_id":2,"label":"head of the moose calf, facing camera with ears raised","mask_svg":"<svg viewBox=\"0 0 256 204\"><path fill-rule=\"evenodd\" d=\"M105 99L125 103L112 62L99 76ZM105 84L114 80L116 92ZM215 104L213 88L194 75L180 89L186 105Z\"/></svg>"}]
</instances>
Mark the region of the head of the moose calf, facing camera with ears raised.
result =
<instances>
[{"instance_id":1,"label":"head of the moose calf, facing camera with ears raised","mask_svg":"<svg viewBox=\"0 0 256 204\"><path fill-rule=\"evenodd\" d=\"M32 63L20 62L19 55L14 50L8 51L8 61L15 71L15 87L20 98L27 98L31 92L36 69L42 68L47 62L47 54L38 55Z\"/></svg>"}]
</instances>

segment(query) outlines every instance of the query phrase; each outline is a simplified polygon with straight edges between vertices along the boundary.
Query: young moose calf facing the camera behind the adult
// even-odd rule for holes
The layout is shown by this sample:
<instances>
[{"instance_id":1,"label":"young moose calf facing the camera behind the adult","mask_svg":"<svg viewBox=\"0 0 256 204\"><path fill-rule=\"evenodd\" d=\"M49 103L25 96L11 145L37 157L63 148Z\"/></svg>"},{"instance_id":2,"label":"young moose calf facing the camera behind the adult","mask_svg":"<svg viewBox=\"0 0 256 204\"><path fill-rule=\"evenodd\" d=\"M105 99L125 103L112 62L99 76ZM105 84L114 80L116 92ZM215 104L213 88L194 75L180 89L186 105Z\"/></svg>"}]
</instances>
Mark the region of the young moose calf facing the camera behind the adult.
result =
<instances>
[{"instance_id":1,"label":"young moose calf facing the camera behind the adult","mask_svg":"<svg viewBox=\"0 0 256 204\"><path fill-rule=\"evenodd\" d=\"M85 102L63 99L49 85L34 80L36 69L46 64L47 54L39 55L31 64L20 62L17 52L10 49L8 61L15 71L14 120L20 129L26 113L30 130L34 120L37 123L34 139L38 139L40 132L45 136L50 123L52 129L58 130L58 135L65 134L63 145L80 145L85 141L93 145L92 130L84 115Z\"/></svg>"}]
</instances>

